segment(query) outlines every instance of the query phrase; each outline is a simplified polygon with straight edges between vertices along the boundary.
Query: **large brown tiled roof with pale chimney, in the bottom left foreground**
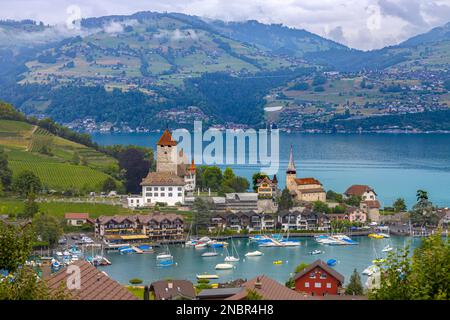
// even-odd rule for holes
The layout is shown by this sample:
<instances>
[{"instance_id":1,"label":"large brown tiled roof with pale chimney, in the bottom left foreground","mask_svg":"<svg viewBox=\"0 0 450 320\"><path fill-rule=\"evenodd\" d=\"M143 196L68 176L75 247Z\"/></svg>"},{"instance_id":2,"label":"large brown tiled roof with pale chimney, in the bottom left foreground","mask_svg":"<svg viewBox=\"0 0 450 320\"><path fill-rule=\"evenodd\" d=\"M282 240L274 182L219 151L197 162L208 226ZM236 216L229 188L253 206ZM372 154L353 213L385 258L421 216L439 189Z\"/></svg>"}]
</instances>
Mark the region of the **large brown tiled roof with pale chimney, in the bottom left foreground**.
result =
<instances>
[{"instance_id":1,"label":"large brown tiled roof with pale chimney, in the bottom left foreground","mask_svg":"<svg viewBox=\"0 0 450 320\"><path fill-rule=\"evenodd\" d=\"M47 267L50 268L50 265ZM42 273L49 275L48 271L43 270ZM79 286L73 280L74 272L79 272ZM75 261L57 273L44 277L44 281L52 292L62 290L73 300L138 300L123 285L84 260Z\"/></svg>"}]
</instances>

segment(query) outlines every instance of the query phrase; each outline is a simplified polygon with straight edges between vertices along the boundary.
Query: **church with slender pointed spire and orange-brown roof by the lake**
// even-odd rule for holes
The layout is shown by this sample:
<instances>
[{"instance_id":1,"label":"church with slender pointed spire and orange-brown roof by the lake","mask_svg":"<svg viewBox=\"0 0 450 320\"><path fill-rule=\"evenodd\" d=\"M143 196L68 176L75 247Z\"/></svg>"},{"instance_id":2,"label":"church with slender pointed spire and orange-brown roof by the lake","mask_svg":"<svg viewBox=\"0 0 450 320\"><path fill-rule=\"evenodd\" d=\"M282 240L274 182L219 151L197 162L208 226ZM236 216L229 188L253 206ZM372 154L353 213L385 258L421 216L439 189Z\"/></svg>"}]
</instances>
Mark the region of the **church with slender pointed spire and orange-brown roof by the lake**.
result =
<instances>
[{"instance_id":1,"label":"church with slender pointed spire and orange-brown roof by the lake","mask_svg":"<svg viewBox=\"0 0 450 320\"><path fill-rule=\"evenodd\" d=\"M297 178L297 170L294 164L294 155L289 155L289 164L286 170L286 187L296 201L326 201L326 192L319 180L315 178Z\"/></svg>"}]
</instances>

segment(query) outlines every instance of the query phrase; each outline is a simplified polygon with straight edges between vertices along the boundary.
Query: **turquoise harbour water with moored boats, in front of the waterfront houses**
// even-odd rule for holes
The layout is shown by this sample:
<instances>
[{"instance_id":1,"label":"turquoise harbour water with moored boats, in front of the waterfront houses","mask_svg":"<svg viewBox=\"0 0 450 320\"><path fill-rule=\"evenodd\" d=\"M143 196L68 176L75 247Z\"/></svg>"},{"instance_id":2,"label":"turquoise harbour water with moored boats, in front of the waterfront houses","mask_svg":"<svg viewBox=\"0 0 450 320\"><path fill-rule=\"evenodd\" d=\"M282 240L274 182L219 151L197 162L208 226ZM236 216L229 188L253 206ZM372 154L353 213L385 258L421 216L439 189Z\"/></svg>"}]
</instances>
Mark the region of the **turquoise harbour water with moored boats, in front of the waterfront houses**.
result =
<instances>
[{"instance_id":1,"label":"turquoise harbour water with moored boats, in front of the waterfront houses","mask_svg":"<svg viewBox=\"0 0 450 320\"><path fill-rule=\"evenodd\" d=\"M170 245L169 249L174 256L177 265L171 267L158 267L156 255L164 248L157 248L155 253L148 254L120 254L118 252L107 253L107 258L112 265L100 267L113 279L127 284L132 278L140 278L148 284L160 279L188 279L196 281L197 274L217 274L219 282L226 282L238 278L251 279L257 275L264 274L281 283L284 283L294 271L295 267L302 263L311 263L316 259L327 261L336 259L337 265L334 267L344 275L345 282L350 279L353 269L362 272L372 264L375 258L385 256L382 249L387 245L394 248L403 248L410 245L413 249L420 244L420 238L391 237L389 239L371 239L368 237L353 237L358 245L353 246L325 246L316 243L314 238L297 238L301 242L300 247L258 247L256 243L249 242L248 239L235 239L234 244L239 252L241 260L234 262L236 266L233 270L215 270L215 265L223 263L224 249L216 249L219 253L216 257L201 257L201 254L208 249L195 249L193 247L182 247L181 245ZM231 246L229 246L231 248ZM310 251L320 249L324 253L311 255ZM263 256L246 258L245 253L259 250ZM273 261L282 260L283 264L275 265ZM366 276L361 276L363 282Z\"/></svg>"}]
</instances>

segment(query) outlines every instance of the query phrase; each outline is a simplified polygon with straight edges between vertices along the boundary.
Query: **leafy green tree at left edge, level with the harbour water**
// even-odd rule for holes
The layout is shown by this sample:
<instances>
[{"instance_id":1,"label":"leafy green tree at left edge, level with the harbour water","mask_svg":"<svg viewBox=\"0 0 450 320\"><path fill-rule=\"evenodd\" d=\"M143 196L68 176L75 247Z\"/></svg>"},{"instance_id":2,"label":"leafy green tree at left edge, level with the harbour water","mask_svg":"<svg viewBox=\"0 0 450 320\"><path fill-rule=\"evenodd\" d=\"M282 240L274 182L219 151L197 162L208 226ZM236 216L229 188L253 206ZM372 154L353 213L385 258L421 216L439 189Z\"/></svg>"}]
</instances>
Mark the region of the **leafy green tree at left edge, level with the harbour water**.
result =
<instances>
[{"instance_id":1,"label":"leafy green tree at left edge, level with the harbour water","mask_svg":"<svg viewBox=\"0 0 450 320\"><path fill-rule=\"evenodd\" d=\"M0 270L15 272L31 253L33 232L25 226L0 221Z\"/></svg>"}]
</instances>

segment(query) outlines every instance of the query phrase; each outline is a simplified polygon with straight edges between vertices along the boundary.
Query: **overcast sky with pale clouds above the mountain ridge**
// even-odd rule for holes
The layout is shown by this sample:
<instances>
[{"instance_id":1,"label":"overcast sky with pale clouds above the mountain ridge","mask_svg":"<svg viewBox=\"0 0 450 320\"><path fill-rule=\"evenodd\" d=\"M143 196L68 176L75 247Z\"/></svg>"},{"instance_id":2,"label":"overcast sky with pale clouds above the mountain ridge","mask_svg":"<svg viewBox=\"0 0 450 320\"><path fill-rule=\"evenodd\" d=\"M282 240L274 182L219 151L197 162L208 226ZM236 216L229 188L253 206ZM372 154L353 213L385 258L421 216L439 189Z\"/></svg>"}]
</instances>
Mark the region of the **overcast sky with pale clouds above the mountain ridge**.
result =
<instances>
[{"instance_id":1,"label":"overcast sky with pale clouds above the mountain ridge","mask_svg":"<svg viewBox=\"0 0 450 320\"><path fill-rule=\"evenodd\" d=\"M450 0L0 0L0 19L63 24L74 5L83 18L168 11L283 23L364 50L394 45L450 22Z\"/></svg>"}]
</instances>

